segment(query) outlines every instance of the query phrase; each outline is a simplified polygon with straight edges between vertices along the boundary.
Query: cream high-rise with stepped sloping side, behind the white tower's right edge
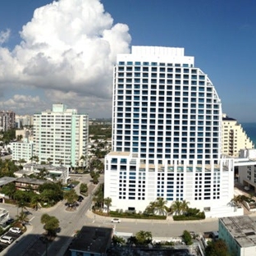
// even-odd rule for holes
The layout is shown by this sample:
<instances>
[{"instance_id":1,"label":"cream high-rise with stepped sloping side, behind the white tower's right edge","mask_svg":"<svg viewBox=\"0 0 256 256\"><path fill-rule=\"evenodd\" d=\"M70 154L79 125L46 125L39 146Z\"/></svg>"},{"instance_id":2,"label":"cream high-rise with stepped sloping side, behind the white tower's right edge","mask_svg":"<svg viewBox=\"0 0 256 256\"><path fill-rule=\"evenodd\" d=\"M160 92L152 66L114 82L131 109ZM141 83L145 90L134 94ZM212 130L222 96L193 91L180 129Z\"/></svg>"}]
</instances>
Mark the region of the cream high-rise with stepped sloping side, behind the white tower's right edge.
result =
<instances>
[{"instance_id":1,"label":"cream high-rise with stepped sloping side, behind the white tower's right edge","mask_svg":"<svg viewBox=\"0 0 256 256\"><path fill-rule=\"evenodd\" d=\"M240 149L254 149L254 143L249 139L243 127L231 117L222 117L222 154L238 157Z\"/></svg>"}]
</instances>

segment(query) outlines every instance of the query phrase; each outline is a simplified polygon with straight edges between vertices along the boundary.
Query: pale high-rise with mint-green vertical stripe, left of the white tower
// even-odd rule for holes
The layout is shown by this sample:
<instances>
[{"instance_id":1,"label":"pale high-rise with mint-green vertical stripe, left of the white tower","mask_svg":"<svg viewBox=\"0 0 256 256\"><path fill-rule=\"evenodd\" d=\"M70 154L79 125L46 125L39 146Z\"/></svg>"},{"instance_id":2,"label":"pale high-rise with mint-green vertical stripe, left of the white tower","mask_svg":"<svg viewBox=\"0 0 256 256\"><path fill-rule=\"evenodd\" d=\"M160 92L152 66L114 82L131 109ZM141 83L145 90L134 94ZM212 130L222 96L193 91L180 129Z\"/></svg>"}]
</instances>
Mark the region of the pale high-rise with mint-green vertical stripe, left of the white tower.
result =
<instances>
[{"instance_id":1,"label":"pale high-rise with mint-green vertical stripe, left of the white tower","mask_svg":"<svg viewBox=\"0 0 256 256\"><path fill-rule=\"evenodd\" d=\"M89 117L76 109L59 103L53 104L52 111L34 114L34 156L39 163L86 166L88 138Z\"/></svg>"}]
</instances>

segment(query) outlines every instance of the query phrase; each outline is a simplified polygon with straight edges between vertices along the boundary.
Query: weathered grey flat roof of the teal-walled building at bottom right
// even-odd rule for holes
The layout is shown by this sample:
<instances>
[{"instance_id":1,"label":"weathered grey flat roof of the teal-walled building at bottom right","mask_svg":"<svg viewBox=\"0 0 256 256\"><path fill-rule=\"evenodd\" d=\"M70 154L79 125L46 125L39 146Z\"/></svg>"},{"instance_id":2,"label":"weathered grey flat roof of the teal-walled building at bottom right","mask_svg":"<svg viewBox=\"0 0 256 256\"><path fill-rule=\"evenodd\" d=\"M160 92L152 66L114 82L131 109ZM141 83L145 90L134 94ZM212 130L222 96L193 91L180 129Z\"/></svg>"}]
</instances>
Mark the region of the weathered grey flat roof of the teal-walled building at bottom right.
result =
<instances>
[{"instance_id":1,"label":"weathered grey flat roof of the teal-walled building at bottom right","mask_svg":"<svg viewBox=\"0 0 256 256\"><path fill-rule=\"evenodd\" d=\"M220 222L240 247L256 246L256 222L249 216L222 217Z\"/></svg>"}]
</instances>

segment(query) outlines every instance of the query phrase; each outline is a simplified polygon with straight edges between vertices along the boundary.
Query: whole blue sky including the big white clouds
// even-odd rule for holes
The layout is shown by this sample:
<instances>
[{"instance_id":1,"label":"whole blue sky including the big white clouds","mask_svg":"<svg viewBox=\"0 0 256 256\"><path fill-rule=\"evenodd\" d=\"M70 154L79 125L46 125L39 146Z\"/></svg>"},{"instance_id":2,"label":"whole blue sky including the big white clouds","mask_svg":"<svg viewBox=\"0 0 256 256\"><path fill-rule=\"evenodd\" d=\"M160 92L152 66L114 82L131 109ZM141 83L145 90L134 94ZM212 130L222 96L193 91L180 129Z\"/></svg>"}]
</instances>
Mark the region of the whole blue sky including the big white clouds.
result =
<instances>
[{"instance_id":1,"label":"whole blue sky including the big white clouds","mask_svg":"<svg viewBox=\"0 0 256 256\"><path fill-rule=\"evenodd\" d=\"M0 109L53 103L112 117L112 67L131 45L185 48L222 110L256 122L256 1L10 0L0 8Z\"/></svg>"}]
</instances>

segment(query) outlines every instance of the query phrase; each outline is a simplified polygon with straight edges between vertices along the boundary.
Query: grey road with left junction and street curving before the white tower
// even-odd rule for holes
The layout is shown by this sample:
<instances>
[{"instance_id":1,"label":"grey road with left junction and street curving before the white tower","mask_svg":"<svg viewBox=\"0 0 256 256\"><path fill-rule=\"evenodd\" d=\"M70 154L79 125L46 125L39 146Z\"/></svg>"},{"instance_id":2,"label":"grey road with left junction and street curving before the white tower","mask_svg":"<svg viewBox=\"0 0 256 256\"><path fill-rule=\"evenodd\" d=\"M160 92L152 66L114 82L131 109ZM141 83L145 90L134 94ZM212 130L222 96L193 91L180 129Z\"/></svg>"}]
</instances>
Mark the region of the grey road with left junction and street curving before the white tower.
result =
<instances>
[{"instance_id":1,"label":"grey road with left junction and street curving before the white tower","mask_svg":"<svg viewBox=\"0 0 256 256\"><path fill-rule=\"evenodd\" d=\"M77 176L81 182L89 182L89 176ZM103 182L103 178L101 178ZM75 187L79 190L79 186ZM27 226L28 232L25 233L17 242L9 246L4 254L0 255L31 255L29 249L39 240L39 235L43 234L43 225L40 223L40 218L43 213L56 216L60 221L61 231L57 233L57 238L49 244L43 245L43 251L38 255L55 255L62 256L70 245L70 242L75 234L75 231L80 230L81 226L112 226L117 232L132 233L135 235L138 231L151 231L154 238L157 237L176 237L182 234L184 230L195 231L196 233L204 231L217 231L217 219L207 219L199 222L174 222L171 219L166 221L159 220L135 220L121 219L121 223L111 223L111 217L101 217L94 215L89 208L91 206L92 195L89 195L80 206L73 212L67 211L65 202L57 203L53 208L42 208L39 211L30 210L30 224ZM14 205L2 204L2 208L9 210L11 217L17 214L17 208ZM19 209L20 211L20 209ZM250 217L256 221L256 214L251 214ZM47 249L47 254L46 254ZM36 249L35 249L36 251ZM36 255L36 254L33 254Z\"/></svg>"}]
</instances>

